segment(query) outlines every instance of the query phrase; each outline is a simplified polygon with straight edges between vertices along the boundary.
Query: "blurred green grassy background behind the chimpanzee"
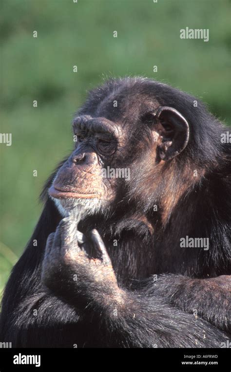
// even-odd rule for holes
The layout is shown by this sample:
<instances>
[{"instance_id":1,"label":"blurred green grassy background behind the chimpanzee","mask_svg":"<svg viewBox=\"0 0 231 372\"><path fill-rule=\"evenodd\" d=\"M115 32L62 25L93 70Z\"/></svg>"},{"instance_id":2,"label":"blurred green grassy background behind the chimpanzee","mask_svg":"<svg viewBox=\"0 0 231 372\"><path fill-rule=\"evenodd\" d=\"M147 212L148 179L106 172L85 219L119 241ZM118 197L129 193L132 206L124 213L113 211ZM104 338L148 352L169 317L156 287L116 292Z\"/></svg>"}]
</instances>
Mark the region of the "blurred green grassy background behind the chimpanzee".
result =
<instances>
[{"instance_id":1,"label":"blurred green grassy background behind the chimpanzee","mask_svg":"<svg viewBox=\"0 0 231 372\"><path fill-rule=\"evenodd\" d=\"M39 218L42 185L72 149L70 122L86 90L144 75L193 93L229 123L231 36L228 0L0 4L0 132L12 133L12 146L0 144L1 292ZM186 26L209 28L209 42L181 40Z\"/></svg>"}]
</instances>

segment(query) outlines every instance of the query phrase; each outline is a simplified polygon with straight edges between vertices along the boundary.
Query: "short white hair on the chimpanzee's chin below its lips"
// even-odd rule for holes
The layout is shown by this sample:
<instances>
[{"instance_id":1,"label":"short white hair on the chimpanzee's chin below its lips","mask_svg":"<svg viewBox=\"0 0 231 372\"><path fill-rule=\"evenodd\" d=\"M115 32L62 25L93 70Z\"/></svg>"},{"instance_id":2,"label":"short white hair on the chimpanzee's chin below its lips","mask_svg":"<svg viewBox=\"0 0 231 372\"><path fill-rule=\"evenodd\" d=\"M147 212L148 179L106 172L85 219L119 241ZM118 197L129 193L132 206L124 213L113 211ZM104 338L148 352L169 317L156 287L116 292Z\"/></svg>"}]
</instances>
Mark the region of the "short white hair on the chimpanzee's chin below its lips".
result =
<instances>
[{"instance_id":1,"label":"short white hair on the chimpanzee's chin below its lips","mask_svg":"<svg viewBox=\"0 0 231 372\"><path fill-rule=\"evenodd\" d=\"M99 211L106 212L105 205L103 205L103 200L98 199L97 197L70 197L68 199L57 199L55 197L51 197L51 199L55 202L58 212L62 217L67 217L68 212L71 211L77 204L81 204L85 208L85 216L94 215Z\"/></svg>"}]
</instances>

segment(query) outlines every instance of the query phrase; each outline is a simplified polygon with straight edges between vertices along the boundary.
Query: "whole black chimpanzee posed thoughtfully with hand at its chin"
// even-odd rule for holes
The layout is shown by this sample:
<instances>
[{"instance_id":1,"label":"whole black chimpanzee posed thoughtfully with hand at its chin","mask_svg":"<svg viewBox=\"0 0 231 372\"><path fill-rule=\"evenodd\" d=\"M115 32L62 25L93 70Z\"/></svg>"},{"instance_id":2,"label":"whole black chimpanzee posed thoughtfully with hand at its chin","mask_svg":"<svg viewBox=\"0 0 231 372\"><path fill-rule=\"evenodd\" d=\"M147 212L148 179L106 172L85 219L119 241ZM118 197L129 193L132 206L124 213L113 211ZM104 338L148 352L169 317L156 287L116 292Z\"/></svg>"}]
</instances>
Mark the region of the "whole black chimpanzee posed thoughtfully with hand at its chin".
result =
<instances>
[{"instance_id":1,"label":"whole black chimpanzee posed thoughtfully with hand at its chin","mask_svg":"<svg viewBox=\"0 0 231 372\"><path fill-rule=\"evenodd\" d=\"M13 347L220 347L230 337L231 146L191 95L112 79L4 291ZM224 143L225 142L225 143Z\"/></svg>"}]
</instances>

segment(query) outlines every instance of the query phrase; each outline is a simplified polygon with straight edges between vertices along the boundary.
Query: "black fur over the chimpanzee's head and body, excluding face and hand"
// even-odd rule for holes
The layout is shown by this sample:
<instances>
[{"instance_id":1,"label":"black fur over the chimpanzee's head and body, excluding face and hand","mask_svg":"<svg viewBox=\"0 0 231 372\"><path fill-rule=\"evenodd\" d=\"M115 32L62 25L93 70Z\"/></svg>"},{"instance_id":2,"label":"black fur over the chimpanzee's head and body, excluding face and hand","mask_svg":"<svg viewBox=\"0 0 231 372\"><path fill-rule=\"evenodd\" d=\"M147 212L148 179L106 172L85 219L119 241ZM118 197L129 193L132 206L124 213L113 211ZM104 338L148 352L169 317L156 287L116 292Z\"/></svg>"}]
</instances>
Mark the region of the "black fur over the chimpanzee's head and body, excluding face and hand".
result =
<instances>
[{"instance_id":1,"label":"black fur over the chimpanzee's head and body, excluding face and hand","mask_svg":"<svg viewBox=\"0 0 231 372\"><path fill-rule=\"evenodd\" d=\"M112 107L114 100L119 102L117 108ZM5 288L0 341L12 342L13 347L196 348L220 347L228 339L229 298L216 287L200 297L203 288L191 279L231 274L231 148L220 141L220 133L227 129L199 101L198 107L193 107L194 100L189 94L143 78L111 80L90 92L78 115L114 122L123 119L128 127L125 148L129 156L118 159L117 164L125 168L132 160L136 176L124 186L126 190L121 186L124 197L117 197L107 215L88 217L80 223L80 230L87 233L97 228L103 237L128 306L115 316L113 307L94 302L86 308L77 306L71 298L51 293L41 284L46 240L61 219L47 194L52 175L42 193L45 207L38 225ZM140 187L145 163L137 159L136 145L137 138L149 138L150 130L141 120L148 105L177 109L190 125L190 140L186 149L166 164L161 179L147 180ZM188 174L194 169L198 170L198 181L190 184ZM153 205L161 205L163 190L174 197L187 182L186 191L163 221L161 208L154 213ZM154 192L148 194L151 185ZM140 213L148 223L134 217ZM209 251L182 250L179 239L187 235L210 238ZM114 239L118 240L116 249ZM33 246L34 240L38 247ZM157 282L153 274L158 274ZM189 304L188 299L192 300ZM197 318L192 314L194 307L199 312Z\"/></svg>"}]
</instances>

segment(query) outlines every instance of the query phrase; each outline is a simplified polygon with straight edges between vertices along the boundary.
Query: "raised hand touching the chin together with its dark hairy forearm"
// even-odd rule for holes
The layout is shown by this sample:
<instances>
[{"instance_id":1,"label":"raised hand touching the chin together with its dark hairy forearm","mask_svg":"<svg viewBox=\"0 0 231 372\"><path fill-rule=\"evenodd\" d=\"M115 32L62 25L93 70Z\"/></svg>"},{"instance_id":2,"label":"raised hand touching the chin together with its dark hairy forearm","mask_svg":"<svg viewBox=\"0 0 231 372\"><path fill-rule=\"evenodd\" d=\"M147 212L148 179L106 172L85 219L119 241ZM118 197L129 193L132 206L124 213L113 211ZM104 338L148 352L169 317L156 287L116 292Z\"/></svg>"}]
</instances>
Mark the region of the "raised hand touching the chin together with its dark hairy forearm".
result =
<instances>
[{"instance_id":1,"label":"raised hand touching the chin together with its dark hairy forearm","mask_svg":"<svg viewBox=\"0 0 231 372\"><path fill-rule=\"evenodd\" d=\"M107 346L219 347L226 340L206 321L166 305L158 295L119 288L96 230L91 240L100 259L89 258L79 247L75 219L62 219L47 241L42 282L84 309Z\"/></svg>"}]
</instances>

